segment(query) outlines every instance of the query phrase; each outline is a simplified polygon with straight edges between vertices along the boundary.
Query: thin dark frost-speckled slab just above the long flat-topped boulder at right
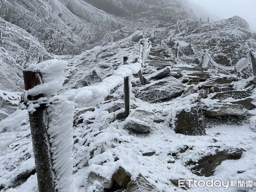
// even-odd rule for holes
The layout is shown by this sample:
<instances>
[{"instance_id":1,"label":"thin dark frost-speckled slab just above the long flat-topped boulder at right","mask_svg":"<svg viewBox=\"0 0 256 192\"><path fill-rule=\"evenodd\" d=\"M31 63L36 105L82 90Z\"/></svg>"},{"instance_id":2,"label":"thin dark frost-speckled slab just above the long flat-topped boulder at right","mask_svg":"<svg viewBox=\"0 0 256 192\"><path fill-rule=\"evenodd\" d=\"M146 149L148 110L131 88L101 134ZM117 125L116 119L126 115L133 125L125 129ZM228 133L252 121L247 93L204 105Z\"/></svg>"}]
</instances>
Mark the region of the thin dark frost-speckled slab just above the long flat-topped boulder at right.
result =
<instances>
[{"instance_id":1,"label":"thin dark frost-speckled slab just above the long flat-topped boulder at right","mask_svg":"<svg viewBox=\"0 0 256 192\"><path fill-rule=\"evenodd\" d=\"M249 96L251 96L251 94L248 91L235 90L235 91L225 91L225 92L216 93L214 96L211 97L211 99L219 99L219 100L224 100L227 98L242 99Z\"/></svg>"}]
</instances>

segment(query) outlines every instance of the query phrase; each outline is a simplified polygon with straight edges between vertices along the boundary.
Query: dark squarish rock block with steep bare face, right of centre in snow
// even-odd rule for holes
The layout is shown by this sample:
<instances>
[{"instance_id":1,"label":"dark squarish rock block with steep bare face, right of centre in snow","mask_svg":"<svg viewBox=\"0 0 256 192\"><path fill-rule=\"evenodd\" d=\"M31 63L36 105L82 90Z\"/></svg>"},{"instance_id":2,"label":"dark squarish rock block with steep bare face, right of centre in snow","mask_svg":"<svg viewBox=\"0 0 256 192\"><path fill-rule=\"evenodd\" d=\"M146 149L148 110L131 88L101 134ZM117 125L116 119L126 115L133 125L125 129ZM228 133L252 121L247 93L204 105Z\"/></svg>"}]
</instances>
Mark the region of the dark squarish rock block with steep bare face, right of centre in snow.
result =
<instances>
[{"instance_id":1,"label":"dark squarish rock block with steep bare face, right of centre in snow","mask_svg":"<svg viewBox=\"0 0 256 192\"><path fill-rule=\"evenodd\" d=\"M192 107L190 111L182 110L176 114L175 132L184 135L205 135L204 113L201 103Z\"/></svg>"}]
</instances>

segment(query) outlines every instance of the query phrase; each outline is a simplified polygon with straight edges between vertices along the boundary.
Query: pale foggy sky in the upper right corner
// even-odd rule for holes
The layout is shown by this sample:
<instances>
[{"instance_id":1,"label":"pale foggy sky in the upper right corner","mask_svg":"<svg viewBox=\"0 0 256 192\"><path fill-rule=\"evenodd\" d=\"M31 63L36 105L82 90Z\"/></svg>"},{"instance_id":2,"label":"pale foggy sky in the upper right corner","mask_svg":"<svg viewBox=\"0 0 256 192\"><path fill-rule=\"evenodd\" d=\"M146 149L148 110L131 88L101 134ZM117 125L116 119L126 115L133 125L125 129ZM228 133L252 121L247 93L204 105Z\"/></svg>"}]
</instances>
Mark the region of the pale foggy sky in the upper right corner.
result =
<instances>
[{"instance_id":1,"label":"pale foggy sky in the upper right corner","mask_svg":"<svg viewBox=\"0 0 256 192\"><path fill-rule=\"evenodd\" d=\"M212 16L214 20L225 19L225 18L233 17L234 15L238 15L244 18L250 24L251 30L256 31L256 0L190 0L190 1L192 3L201 5L207 12L209 12L210 16ZM194 11L198 11L198 9ZM202 15L202 13L200 14Z\"/></svg>"}]
</instances>

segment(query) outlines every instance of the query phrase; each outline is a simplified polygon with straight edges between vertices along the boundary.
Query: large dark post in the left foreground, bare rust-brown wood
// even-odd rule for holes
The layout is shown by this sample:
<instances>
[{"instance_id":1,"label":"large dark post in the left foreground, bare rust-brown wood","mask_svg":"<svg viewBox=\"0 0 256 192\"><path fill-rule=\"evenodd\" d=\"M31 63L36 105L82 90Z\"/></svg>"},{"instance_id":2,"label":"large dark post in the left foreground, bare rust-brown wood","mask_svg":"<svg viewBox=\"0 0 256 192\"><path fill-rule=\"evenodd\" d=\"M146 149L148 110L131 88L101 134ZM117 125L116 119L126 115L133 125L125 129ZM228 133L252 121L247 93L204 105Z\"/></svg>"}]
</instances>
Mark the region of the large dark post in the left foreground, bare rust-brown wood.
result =
<instances>
[{"instance_id":1,"label":"large dark post in the left foreground, bare rust-brown wood","mask_svg":"<svg viewBox=\"0 0 256 192\"><path fill-rule=\"evenodd\" d=\"M41 73L38 71L24 70L23 78L25 90L29 90L38 84L42 84ZM31 101L35 101L43 94L38 96L28 96ZM39 192L55 192L54 171L52 169L52 157L49 146L47 128L49 124L47 106L40 105L36 111L29 113L30 130L32 145L35 158L35 170L38 180Z\"/></svg>"}]
</instances>

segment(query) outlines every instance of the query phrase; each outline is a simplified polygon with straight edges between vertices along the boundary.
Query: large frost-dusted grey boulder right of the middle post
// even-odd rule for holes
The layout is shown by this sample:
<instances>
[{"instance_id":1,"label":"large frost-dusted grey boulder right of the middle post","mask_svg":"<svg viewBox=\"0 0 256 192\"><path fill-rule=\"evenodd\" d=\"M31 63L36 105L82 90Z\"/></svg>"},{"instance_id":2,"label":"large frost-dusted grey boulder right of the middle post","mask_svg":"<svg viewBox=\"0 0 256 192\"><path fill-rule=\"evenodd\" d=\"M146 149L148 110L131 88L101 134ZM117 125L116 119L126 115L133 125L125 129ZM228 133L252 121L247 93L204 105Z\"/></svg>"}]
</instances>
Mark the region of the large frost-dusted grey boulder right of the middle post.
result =
<instances>
[{"instance_id":1,"label":"large frost-dusted grey boulder right of the middle post","mask_svg":"<svg viewBox=\"0 0 256 192\"><path fill-rule=\"evenodd\" d=\"M137 91L137 98L146 102L164 102L180 96L185 90L184 85L170 76L168 79L153 81Z\"/></svg>"}]
</instances>

